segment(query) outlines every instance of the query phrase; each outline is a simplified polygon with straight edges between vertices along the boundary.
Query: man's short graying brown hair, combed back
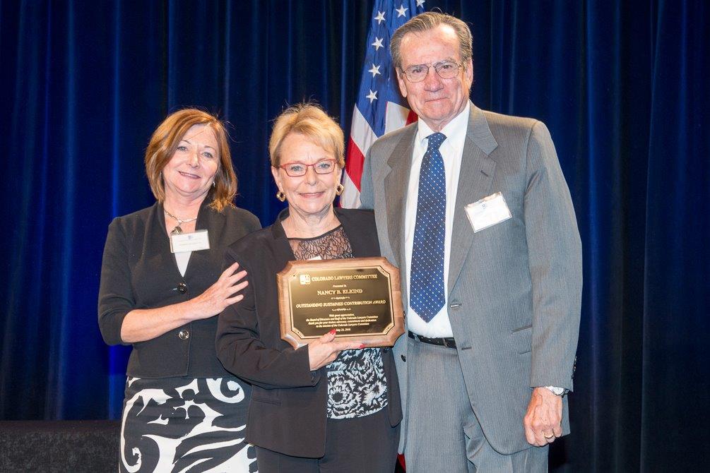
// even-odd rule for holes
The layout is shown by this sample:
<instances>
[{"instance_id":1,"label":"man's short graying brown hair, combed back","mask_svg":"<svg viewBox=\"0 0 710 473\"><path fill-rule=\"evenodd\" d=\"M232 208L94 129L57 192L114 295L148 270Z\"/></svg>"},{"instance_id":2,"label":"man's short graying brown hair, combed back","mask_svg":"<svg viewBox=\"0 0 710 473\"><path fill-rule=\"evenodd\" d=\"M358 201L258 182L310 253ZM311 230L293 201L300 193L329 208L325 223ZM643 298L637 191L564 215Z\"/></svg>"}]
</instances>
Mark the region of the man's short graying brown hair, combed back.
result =
<instances>
[{"instance_id":1,"label":"man's short graying brown hair, combed back","mask_svg":"<svg viewBox=\"0 0 710 473\"><path fill-rule=\"evenodd\" d=\"M439 25L448 25L454 28L456 35L459 37L459 54L461 62L464 63L464 68L468 65L469 60L474 57L474 40L471 35L471 28L466 23L459 20L455 16L439 13L438 11L425 11L404 23L395 30L390 40L390 52L392 62L395 67L402 69L402 56L400 55L400 45L405 35L409 33L424 33L425 31L433 30Z\"/></svg>"}]
</instances>

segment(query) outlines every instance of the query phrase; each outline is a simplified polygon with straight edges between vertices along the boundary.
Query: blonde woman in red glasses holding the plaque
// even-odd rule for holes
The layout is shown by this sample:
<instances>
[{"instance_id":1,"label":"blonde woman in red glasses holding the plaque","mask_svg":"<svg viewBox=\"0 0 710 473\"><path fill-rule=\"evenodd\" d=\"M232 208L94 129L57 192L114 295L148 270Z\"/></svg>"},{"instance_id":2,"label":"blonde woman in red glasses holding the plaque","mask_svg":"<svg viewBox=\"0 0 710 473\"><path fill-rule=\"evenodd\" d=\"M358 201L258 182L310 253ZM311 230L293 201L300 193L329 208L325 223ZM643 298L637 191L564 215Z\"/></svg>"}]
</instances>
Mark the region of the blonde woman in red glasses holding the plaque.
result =
<instances>
[{"instance_id":1,"label":"blonde woman in red glasses holding the plaque","mask_svg":"<svg viewBox=\"0 0 710 473\"><path fill-rule=\"evenodd\" d=\"M227 250L249 286L217 328L219 360L253 384L246 439L266 473L391 472L402 418L392 350L334 330L297 349L280 335L276 274L288 262L379 256L373 213L333 206L343 132L319 107L294 106L276 119L269 154L288 208Z\"/></svg>"}]
</instances>

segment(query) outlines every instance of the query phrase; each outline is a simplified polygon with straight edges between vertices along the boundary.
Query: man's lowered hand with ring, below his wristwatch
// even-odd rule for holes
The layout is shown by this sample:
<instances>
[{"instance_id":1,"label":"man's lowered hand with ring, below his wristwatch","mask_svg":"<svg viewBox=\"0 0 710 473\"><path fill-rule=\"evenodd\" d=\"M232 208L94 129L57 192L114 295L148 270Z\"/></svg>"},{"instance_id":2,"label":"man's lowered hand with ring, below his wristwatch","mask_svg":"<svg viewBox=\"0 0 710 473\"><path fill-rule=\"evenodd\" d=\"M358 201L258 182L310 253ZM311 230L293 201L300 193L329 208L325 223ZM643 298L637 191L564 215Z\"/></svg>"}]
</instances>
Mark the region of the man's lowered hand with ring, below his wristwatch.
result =
<instances>
[{"instance_id":1,"label":"man's lowered hand with ring, below his wristwatch","mask_svg":"<svg viewBox=\"0 0 710 473\"><path fill-rule=\"evenodd\" d=\"M530 445L544 447L555 442L562 435L562 396L545 387L533 389L523 426Z\"/></svg>"}]
</instances>

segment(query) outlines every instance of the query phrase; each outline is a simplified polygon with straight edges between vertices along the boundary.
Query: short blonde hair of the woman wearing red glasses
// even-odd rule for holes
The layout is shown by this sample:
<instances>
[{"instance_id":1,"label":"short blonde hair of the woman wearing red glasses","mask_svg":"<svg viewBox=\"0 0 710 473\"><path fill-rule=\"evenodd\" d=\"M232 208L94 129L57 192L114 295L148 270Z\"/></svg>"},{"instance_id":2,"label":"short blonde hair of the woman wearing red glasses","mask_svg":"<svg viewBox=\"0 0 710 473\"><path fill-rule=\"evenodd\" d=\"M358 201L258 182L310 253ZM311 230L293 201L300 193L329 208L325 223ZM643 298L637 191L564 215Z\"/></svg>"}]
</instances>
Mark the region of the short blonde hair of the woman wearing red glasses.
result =
<instances>
[{"instance_id":1,"label":"short blonde hair of the woman wearing red glasses","mask_svg":"<svg viewBox=\"0 0 710 473\"><path fill-rule=\"evenodd\" d=\"M301 133L332 154L337 165L345 167L345 138L338 123L320 106L305 102L286 108L273 124L268 152L271 165L281 164L281 145L289 133Z\"/></svg>"}]
</instances>

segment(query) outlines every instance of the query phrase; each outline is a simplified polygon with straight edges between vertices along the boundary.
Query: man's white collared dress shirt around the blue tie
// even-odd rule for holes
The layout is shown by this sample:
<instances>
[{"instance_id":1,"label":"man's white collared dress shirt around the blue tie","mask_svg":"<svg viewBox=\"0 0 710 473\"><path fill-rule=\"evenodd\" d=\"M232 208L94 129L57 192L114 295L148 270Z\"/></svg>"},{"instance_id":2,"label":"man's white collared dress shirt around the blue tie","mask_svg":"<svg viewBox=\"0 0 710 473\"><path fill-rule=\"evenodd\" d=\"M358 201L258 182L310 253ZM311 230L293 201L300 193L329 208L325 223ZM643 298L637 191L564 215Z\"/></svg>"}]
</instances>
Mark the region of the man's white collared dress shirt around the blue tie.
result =
<instances>
[{"instance_id":1,"label":"man's white collared dress shirt around the blue tie","mask_svg":"<svg viewBox=\"0 0 710 473\"><path fill-rule=\"evenodd\" d=\"M451 234L454 228L454 211L456 210L456 194L459 189L459 172L461 171L461 156L464 154L466 130L469 127L469 114L471 102L466 104L461 113L454 117L441 130L446 135L446 140L439 147L444 158L444 172L446 174L446 236L444 237L444 296L449 294L449 258L451 257ZM424 153L427 152L427 136L435 133L421 119L417 122L417 135L415 136L412 155L412 167L409 174L409 188L407 194L407 208L405 209L405 279L409 299L412 299L410 288L410 270L412 265L412 249L414 246L414 230L417 224L417 201L419 198L419 172L422 167ZM430 322L425 322L414 311L412 306L407 308L407 328L413 333L429 338L452 337L451 322L449 321L449 301L444 301L444 306Z\"/></svg>"}]
</instances>

